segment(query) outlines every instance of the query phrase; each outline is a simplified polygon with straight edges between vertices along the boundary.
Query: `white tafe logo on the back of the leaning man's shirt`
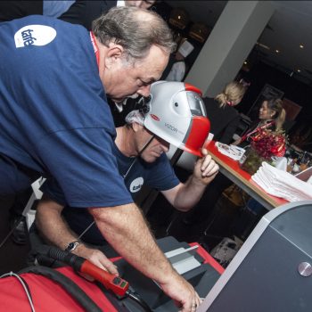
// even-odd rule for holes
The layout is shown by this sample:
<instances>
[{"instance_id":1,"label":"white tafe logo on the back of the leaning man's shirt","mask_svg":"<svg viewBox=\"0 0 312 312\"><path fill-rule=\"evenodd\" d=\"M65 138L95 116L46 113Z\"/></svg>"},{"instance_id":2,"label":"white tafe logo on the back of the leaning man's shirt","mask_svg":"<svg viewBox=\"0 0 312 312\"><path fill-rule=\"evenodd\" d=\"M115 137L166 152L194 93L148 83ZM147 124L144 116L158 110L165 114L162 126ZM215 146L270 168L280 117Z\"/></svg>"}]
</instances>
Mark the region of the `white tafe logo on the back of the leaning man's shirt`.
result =
<instances>
[{"instance_id":1,"label":"white tafe logo on the back of the leaning man's shirt","mask_svg":"<svg viewBox=\"0 0 312 312\"><path fill-rule=\"evenodd\" d=\"M14 35L16 47L47 45L56 37L56 30L45 25L28 25Z\"/></svg>"}]
</instances>

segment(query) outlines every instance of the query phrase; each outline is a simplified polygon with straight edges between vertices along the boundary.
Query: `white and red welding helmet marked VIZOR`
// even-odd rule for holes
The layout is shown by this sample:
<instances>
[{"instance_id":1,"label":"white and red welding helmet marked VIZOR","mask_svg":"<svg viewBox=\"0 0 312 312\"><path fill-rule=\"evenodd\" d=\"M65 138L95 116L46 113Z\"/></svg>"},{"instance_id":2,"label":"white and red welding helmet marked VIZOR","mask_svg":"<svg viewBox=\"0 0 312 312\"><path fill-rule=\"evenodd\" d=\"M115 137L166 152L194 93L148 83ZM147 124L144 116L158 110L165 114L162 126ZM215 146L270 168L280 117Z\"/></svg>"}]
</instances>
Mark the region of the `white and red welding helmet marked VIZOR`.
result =
<instances>
[{"instance_id":1,"label":"white and red welding helmet marked VIZOR","mask_svg":"<svg viewBox=\"0 0 312 312\"><path fill-rule=\"evenodd\" d=\"M155 82L144 114L144 127L154 135L201 156L210 122L199 89L184 82Z\"/></svg>"}]
</instances>

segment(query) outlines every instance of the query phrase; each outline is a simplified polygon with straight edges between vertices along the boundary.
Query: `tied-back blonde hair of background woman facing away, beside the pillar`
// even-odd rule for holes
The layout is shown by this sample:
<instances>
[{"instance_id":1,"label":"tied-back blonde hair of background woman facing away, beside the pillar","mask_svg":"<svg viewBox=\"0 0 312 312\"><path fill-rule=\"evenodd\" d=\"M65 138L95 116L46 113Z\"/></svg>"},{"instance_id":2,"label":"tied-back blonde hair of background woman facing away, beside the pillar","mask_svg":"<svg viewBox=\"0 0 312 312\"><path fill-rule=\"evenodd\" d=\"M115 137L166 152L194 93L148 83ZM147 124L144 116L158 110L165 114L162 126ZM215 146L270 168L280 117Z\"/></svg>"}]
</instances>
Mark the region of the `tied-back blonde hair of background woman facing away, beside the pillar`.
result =
<instances>
[{"instance_id":1,"label":"tied-back blonde hair of background woman facing away, beside the pillar","mask_svg":"<svg viewBox=\"0 0 312 312\"><path fill-rule=\"evenodd\" d=\"M238 81L232 81L226 85L222 93L215 97L215 100L220 104L220 107L225 107L227 104L236 102L242 99L247 87Z\"/></svg>"}]
</instances>

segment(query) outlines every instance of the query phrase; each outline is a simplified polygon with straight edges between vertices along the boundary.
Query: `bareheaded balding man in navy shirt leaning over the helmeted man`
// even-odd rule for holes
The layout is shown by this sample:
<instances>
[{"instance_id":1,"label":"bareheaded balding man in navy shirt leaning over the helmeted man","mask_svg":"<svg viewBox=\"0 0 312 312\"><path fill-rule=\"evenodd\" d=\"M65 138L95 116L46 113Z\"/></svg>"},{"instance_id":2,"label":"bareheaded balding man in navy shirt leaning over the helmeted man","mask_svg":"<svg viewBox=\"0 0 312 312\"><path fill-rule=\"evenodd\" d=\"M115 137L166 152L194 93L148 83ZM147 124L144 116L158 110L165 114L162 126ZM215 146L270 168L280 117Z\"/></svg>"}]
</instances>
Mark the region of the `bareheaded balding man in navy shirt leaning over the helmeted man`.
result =
<instances>
[{"instance_id":1,"label":"bareheaded balding man in navy shirt leaning over the helmeted man","mask_svg":"<svg viewBox=\"0 0 312 312\"><path fill-rule=\"evenodd\" d=\"M199 305L119 176L106 103L106 94L115 102L149 94L174 49L166 23L145 10L113 8L92 33L36 15L1 23L0 37L0 193L55 178L66 201L89 209L114 249L183 311Z\"/></svg>"}]
</instances>

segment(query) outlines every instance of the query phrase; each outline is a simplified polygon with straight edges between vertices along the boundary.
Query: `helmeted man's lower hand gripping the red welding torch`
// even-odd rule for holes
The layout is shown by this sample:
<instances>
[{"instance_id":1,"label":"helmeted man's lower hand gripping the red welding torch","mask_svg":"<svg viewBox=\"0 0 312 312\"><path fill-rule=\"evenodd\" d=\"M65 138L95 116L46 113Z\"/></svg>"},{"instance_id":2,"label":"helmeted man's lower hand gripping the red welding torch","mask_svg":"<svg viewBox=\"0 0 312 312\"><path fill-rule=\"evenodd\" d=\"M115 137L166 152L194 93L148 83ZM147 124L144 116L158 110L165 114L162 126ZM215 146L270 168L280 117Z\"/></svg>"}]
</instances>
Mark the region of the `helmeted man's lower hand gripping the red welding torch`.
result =
<instances>
[{"instance_id":1,"label":"helmeted man's lower hand gripping the red welding torch","mask_svg":"<svg viewBox=\"0 0 312 312\"><path fill-rule=\"evenodd\" d=\"M108 259L102 251L93 248L88 248L84 244L79 244L78 248L72 253L92 262L96 267L113 274L119 275L117 267Z\"/></svg>"}]
</instances>

